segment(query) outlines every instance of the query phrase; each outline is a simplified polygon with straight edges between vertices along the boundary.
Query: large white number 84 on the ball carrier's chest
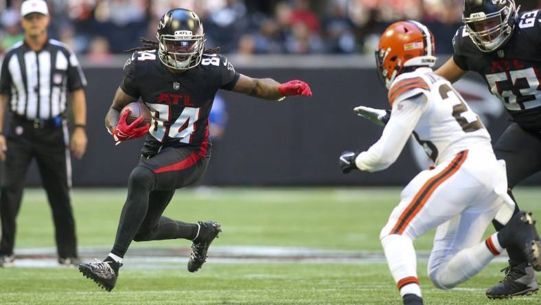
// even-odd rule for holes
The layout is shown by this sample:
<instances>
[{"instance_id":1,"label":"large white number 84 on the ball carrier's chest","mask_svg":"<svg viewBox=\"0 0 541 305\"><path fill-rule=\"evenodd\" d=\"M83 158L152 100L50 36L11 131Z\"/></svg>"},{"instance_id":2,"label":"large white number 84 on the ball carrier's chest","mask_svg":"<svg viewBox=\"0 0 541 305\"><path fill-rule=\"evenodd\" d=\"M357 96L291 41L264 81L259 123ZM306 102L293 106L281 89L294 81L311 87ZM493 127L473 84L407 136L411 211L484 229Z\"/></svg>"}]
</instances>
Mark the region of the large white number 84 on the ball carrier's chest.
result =
<instances>
[{"instance_id":1,"label":"large white number 84 on the ball carrier's chest","mask_svg":"<svg viewBox=\"0 0 541 305\"><path fill-rule=\"evenodd\" d=\"M196 130L196 121L199 117L199 108L184 107L181 115L170 126L165 126L170 120L170 106L164 104L150 104L152 109L152 124L150 134L162 141L165 136L179 138L182 143L189 144L192 133Z\"/></svg>"}]
</instances>

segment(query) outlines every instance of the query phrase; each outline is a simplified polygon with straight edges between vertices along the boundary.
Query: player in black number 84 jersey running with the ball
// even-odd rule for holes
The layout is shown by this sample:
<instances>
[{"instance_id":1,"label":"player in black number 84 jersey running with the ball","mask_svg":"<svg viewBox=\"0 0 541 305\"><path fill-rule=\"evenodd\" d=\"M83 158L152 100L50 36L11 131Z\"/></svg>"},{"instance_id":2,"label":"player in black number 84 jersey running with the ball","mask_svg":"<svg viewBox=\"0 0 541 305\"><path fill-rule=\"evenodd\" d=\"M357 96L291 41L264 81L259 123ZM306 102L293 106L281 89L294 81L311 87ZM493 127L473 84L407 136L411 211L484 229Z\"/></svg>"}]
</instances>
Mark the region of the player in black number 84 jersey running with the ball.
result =
<instances>
[{"instance_id":1,"label":"player in black number 84 jersey running with the ball","mask_svg":"<svg viewBox=\"0 0 541 305\"><path fill-rule=\"evenodd\" d=\"M116 284L122 258L130 242L185 238L193 240L187 269L197 271L221 231L213 221L183 223L161 216L177 188L197 181L210 156L209 112L218 89L266 100L311 96L306 82L279 84L270 78L239 74L233 65L205 50L203 25L196 13L174 9L159 21L157 42L143 40L124 65L105 124L116 142L146 135L139 164L128 179L128 198L122 209L115 244L104 261L80 264L79 270L107 291ZM120 111L137 100L152 113L152 124L138 127L139 117L126 123Z\"/></svg>"}]
</instances>

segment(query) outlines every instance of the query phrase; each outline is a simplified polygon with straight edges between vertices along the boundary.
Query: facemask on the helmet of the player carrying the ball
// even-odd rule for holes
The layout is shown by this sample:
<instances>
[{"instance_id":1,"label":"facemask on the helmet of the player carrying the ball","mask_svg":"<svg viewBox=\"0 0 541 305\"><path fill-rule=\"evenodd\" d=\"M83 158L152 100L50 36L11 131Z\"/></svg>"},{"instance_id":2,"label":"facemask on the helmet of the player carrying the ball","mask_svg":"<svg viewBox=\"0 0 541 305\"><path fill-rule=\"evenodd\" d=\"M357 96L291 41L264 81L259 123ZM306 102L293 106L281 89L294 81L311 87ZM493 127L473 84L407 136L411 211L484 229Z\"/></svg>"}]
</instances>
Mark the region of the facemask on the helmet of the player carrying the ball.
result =
<instances>
[{"instance_id":1,"label":"facemask on the helmet of the player carrying the ball","mask_svg":"<svg viewBox=\"0 0 541 305\"><path fill-rule=\"evenodd\" d=\"M205 45L204 36L192 35L190 31L176 31L174 35L157 35L159 58L163 65L172 69L186 70L201 62Z\"/></svg>"}]
</instances>

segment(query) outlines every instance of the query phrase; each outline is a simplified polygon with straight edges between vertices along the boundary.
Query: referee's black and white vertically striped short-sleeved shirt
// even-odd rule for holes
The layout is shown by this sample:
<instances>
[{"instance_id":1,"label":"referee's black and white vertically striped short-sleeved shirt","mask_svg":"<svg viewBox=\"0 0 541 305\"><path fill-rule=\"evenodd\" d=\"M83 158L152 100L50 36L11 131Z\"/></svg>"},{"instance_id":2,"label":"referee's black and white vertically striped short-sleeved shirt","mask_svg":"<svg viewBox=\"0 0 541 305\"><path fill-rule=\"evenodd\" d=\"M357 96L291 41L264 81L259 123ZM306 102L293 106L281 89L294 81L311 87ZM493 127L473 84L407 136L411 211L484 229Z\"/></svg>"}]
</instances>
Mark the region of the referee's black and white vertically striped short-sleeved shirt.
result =
<instances>
[{"instance_id":1,"label":"referee's black and white vertically striped short-sleeved shirt","mask_svg":"<svg viewBox=\"0 0 541 305\"><path fill-rule=\"evenodd\" d=\"M66 92L87 85L76 55L60 41L49 39L34 52L24 41L3 58L0 94L9 96L8 108L27 120L62 115Z\"/></svg>"}]
</instances>

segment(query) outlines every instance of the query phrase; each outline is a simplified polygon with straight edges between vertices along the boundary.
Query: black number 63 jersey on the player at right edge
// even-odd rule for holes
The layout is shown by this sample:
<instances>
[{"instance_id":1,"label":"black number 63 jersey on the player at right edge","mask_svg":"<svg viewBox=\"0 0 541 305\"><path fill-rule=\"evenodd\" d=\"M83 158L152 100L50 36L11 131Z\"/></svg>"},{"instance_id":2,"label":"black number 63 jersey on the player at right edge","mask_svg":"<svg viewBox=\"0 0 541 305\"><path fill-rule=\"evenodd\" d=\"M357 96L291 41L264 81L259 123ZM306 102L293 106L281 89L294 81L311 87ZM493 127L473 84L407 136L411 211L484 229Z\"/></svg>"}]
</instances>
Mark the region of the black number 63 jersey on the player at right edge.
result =
<instances>
[{"instance_id":1,"label":"black number 63 jersey on the player at right edge","mask_svg":"<svg viewBox=\"0 0 541 305\"><path fill-rule=\"evenodd\" d=\"M476 71L490 92L522 128L541 131L541 11L519 14L509 41L494 52L481 52L462 26L453 38L453 60Z\"/></svg>"}]
</instances>

